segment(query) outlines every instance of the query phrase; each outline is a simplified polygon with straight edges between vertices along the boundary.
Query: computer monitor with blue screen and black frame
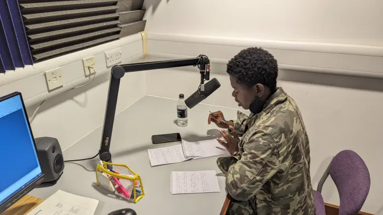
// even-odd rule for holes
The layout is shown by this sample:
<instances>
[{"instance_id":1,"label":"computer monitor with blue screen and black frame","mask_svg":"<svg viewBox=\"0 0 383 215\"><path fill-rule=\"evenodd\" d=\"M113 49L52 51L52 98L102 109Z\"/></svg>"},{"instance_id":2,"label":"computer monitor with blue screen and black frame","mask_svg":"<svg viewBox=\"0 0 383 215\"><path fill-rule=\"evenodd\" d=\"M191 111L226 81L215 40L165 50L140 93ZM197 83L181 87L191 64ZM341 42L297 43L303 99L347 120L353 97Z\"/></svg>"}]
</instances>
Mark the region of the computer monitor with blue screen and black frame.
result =
<instances>
[{"instance_id":1,"label":"computer monitor with blue screen and black frame","mask_svg":"<svg viewBox=\"0 0 383 215\"><path fill-rule=\"evenodd\" d=\"M0 97L0 213L44 180L21 93Z\"/></svg>"}]
</instances>

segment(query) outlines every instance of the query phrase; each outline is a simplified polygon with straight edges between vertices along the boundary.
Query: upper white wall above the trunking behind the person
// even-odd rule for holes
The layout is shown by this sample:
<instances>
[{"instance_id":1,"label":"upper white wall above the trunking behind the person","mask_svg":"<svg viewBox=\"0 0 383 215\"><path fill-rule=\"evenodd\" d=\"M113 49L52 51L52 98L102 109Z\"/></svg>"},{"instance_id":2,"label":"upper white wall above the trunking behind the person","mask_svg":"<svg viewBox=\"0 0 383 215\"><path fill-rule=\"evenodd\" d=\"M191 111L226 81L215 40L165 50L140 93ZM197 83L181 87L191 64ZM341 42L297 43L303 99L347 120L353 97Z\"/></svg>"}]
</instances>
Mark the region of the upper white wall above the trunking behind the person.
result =
<instances>
[{"instance_id":1,"label":"upper white wall above the trunking behind the person","mask_svg":"<svg viewBox=\"0 0 383 215\"><path fill-rule=\"evenodd\" d=\"M383 45L380 0L145 0L144 7L152 32Z\"/></svg>"}]
</instances>

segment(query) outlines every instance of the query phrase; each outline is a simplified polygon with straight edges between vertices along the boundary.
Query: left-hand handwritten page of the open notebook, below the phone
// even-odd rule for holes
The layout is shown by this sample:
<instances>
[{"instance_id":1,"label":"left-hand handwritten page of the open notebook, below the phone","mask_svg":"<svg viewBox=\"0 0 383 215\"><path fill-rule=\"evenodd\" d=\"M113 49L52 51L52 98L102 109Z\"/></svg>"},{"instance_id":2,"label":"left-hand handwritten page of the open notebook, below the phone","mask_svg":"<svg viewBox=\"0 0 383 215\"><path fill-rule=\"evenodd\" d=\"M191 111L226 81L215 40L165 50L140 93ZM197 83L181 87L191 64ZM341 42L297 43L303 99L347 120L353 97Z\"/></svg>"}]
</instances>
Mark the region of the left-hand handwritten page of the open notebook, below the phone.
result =
<instances>
[{"instance_id":1,"label":"left-hand handwritten page of the open notebook, below the phone","mask_svg":"<svg viewBox=\"0 0 383 215\"><path fill-rule=\"evenodd\" d=\"M182 152L181 145L158 149L148 149L148 155L151 166L179 163L188 160Z\"/></svg>"}]
</instances>

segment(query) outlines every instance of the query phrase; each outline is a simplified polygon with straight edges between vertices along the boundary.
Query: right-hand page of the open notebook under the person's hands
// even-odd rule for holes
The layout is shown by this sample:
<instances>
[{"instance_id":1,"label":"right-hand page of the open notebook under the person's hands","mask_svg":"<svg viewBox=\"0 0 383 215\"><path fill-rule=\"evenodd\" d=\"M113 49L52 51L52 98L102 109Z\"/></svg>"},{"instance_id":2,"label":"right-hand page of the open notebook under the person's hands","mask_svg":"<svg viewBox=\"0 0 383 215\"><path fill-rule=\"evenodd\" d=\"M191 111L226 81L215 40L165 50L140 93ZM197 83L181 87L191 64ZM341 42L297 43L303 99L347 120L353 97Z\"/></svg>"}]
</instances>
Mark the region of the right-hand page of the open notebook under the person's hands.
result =
<instances>
[{"instance_id":1,"label":"right-hand page of the open notebook under the person's hands","mask_svg":"<svg viewBox=\"0 0 383 215\"><path fill-rule=\"evenodd\" d=\"M188 142L182 140L183 153L186 158L211 158L230 155L228 150L219 144L216 139Z\"/></svg>"}]
</instances>

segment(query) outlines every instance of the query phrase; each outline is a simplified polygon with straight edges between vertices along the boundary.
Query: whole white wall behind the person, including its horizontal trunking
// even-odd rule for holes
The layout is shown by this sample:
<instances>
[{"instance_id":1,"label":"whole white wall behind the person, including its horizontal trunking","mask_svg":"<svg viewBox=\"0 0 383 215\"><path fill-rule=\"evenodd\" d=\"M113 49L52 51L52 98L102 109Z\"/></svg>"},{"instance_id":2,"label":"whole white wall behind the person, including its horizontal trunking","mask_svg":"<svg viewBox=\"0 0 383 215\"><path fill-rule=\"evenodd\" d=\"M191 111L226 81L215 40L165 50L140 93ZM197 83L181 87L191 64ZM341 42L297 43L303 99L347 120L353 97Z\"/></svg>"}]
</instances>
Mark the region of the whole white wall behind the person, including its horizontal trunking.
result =
<instances>
[{"instance_id":1,"label":"whole white wall behind the person, including its horizontal trunking","mask_svg":"<svg viewBox=\"0 0 383 215\"><path fill-rule=\"evenodd\" d=\"M371 174L363 211L383 214L380 156L383 150L383 2L146 0L152 59L206 54L221 83L204 103L237 108L225 74L241 49L263 47L278 60L282 86L298 103L310 137L311 176L316 187L331 157L356 151ZM148 71L147 94L177 99L199 83L193 67ZM171 86L158 87L157 85ZM218 95L227 95L227 99ZM331 178L326 202L339 205Z\"/></svg>"}]
</instances>

